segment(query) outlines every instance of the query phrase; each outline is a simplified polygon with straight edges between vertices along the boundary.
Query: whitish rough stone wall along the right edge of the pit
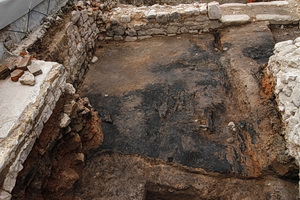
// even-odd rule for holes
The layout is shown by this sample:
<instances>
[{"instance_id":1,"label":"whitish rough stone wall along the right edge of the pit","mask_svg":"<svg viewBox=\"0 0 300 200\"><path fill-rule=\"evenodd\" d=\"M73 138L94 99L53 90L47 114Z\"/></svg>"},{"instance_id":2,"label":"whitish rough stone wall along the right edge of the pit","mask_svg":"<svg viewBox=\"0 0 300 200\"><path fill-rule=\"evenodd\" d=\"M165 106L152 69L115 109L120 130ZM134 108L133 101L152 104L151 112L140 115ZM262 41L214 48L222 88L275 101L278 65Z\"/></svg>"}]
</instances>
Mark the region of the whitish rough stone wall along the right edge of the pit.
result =
<instances>
[{"instance_id":1,"label":"whitish rough stone wall along the right edge of the pit","mask_svg":"<svg viewBox=\"0 0 300 200\"><path fill-rule=\"evenodd\" d=\"M275 96L284 122L289 154L300 166L300 38L275 45L268 63L275 78Z\"/></svg>"}]
</instances>

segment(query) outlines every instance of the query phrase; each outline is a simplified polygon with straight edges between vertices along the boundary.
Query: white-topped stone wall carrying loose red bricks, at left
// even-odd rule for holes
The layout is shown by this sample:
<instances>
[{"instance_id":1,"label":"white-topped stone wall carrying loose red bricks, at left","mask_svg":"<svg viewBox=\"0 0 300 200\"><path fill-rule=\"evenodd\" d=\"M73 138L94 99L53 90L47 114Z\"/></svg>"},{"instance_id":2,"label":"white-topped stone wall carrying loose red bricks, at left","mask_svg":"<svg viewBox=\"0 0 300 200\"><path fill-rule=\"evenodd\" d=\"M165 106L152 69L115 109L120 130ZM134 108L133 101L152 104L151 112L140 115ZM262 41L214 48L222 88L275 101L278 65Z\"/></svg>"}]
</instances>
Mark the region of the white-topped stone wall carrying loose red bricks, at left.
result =
<instances>
[{"instance_id":1,"label":"white-topped stone wall carrying loose red bricks, at left","mask_svg":"<svg viewBox=\"0 0 300 200\"><path fill-rule=\"evenodd\" d=\"M4 121L4 126L1 125L0 199L10 199L17 175L23 168L23 162L65 90L67 74L62 65L44 61L35 61L35 63L43 70L43 75L37 79L35 87L16 87L14 84L17 83L10 80L5 80L1 84L1 115L7 115L7 119L11 119L12 124L7 127ZM22 90L28 90L28 92L24 93ZM23 104L11 105L17 107L21 113L17 118L10 118L13 113L5 112L3 109L7 103L14 102L6 94L13 94L15 99L23 99ZM27 100L28 97L29 100Z\"/></svg>"}]
</instances>

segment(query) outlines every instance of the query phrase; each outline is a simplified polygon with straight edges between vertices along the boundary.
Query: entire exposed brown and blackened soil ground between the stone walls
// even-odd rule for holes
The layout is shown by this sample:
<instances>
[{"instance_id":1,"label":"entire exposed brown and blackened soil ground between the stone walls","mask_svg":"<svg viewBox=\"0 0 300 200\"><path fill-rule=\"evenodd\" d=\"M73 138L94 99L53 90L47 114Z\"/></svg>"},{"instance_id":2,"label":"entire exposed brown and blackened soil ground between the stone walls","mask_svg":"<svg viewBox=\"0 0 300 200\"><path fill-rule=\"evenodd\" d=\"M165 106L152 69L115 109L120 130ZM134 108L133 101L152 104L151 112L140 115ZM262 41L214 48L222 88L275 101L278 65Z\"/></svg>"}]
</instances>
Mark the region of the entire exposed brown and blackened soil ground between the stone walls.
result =
<instances>
[{"instance_id":1,"label":"entire exposed brown and blackened soil ground between the stone walls","mask_svg":"<svg viewBox=\"0 0 300 200\"><path fill-rule=\"evenodd\" d=\"M76 196L296 199L297 167L264 73L274 44L265 23L99 43L80 92L101 116L104 142Z\"/></svg>"}]
</instances>

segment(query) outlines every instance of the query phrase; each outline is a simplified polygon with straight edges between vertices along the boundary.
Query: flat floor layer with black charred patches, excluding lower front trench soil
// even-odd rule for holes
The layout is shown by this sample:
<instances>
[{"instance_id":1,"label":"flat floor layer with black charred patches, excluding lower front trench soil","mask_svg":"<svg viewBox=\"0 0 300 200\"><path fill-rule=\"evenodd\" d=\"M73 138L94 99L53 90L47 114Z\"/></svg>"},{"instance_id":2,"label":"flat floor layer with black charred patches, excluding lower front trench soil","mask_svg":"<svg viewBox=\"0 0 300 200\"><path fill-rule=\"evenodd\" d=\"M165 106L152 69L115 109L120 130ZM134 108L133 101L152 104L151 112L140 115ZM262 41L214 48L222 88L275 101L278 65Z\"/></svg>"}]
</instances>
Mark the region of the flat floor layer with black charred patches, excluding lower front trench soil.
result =
<instances>
[{"instance_id":1,"label":"flat floor layer with black charred patches, excluding lower front trench soil","mask_svg":"<svg viewBox=\"0 0 300 200\"><path fill-rule=\"evenodd\" d=\"M259 120L278 117L276 112L267 113L270 102L263 106L265 116L251 111L256 107L253 102L262 108L256 101L259 79L253 77L270 55L274 40L269 29L244 35L241 45L230 34L235 37L236 31L99 44L99 61L91 66L81 88L103 121L104 143L97 151L138 154L206 171L259 175L263 165L269 165L260 162L270 156L268 152L258 152L265 140L282 142L280 137L261 137L274 134L270 124ZM226 41L221 41L224 35ZM233 57L243 63L234 66L237 69L228 66ZM236 80L238 68L248 68L243 71L246 86ZM239 94L248 79L257 83L249 84L247 94ZM228 126L230 122L234 127Z\"/></svg>"}]
</instances>

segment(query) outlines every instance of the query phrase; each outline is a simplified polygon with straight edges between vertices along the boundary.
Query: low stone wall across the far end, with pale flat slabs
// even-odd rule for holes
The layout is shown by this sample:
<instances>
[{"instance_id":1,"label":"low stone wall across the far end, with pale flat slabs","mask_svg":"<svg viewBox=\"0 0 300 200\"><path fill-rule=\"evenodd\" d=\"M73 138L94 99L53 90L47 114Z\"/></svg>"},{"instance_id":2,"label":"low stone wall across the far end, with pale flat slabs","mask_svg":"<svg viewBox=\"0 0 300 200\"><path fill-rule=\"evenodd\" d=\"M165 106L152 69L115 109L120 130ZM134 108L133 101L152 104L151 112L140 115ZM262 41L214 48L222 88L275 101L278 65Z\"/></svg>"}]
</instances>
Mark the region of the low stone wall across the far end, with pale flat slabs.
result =
<instances>
[{"instance_id":1,"label":"low stone wall across the far end, with pale flat slabs","mask_svg":"<svg viewBox=\"0 0 300 200\"><path fill-rule=\"evenodd\" d=\"M133 7L122 5L109 13L105 30L100 30L104 40L135 41L154 35L201 34L226 26L235 26L254 21L271 24L298 23L299 17L290 15L261 14L253 11L255 6L265 9L280 9L288 2L261 2L249 4L193 3ZM234 14L237 13L237 14ZM282 12L283 13L283 12Z\"/></svg>"}]
</instances>

